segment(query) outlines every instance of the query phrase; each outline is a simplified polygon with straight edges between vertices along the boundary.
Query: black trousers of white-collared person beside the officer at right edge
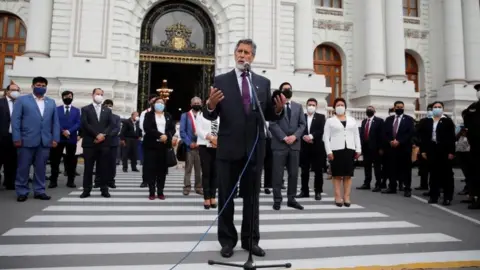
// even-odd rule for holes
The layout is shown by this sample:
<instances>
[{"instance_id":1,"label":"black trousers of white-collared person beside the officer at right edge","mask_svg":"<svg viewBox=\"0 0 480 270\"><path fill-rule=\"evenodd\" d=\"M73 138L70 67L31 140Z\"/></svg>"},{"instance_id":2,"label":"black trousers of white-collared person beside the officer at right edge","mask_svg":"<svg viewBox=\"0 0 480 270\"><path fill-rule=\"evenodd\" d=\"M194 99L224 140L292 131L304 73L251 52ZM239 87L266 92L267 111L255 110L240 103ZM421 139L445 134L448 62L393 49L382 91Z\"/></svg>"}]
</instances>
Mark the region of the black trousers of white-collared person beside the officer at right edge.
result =
<instances>
[{"instance_id":1,"label":"black trousers of white-collared person beside the officer at right edge","mask_svg":"<svg viewBox=\"0 0 480 270\"><path fill-rule=\"evenodd\" d=\"M430 198L438 199L440 189L443 188L444 199L452 200L455 184L452 161L448 159L448 153L442 146L432 143L427 151L427 161L430 173Z\"/></svg>"}]
</instances>

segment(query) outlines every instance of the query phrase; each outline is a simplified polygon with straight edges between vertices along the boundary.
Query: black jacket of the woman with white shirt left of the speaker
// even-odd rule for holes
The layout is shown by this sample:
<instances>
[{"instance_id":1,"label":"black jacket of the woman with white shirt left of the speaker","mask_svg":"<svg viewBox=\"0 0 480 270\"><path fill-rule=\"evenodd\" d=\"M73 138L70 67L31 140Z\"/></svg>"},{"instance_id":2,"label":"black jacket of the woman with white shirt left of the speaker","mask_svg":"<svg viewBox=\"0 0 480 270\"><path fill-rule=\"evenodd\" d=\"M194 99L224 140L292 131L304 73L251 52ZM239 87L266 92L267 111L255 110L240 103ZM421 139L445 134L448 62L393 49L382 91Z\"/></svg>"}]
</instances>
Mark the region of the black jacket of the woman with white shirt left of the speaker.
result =
<instances>
[{"instance_id":1,"label":"black jacket of the woman with white shirt left of the speaker","mask_svg":"<svg viewBox=\"0 0 480 270\"><path fill-rule=\"evenodd\" d=\"M172 147L172 138L175 135L175 121L172 119L169 113L165 112L165 133L161 133L157 129L157 123L155 121L155 111L151 110L145 114L145 120L143 121L143 147L149 149L159 149L165 147ZM160 136L167 135L167 143L160 142Z\"/></svg>"}]
</instances>

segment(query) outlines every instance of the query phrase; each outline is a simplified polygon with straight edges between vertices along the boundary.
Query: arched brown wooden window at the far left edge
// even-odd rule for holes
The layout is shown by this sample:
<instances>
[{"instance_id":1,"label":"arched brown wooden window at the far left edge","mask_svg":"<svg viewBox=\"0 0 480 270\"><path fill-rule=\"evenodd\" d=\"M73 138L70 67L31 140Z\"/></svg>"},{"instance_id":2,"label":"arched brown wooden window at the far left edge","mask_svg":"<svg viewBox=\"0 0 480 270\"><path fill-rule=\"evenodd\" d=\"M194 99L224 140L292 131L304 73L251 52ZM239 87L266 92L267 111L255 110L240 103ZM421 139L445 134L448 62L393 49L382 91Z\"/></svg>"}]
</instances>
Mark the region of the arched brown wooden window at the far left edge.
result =
<instances>
[{"instance_id":1,"label":"arched brown wooden window at the far left edge","mask_svg":"<svg viewBox=\"0 0 480 270\"><path fill-rule=\"evenodd\" d=\"M10 84L6 71L13 68L16 56L25 51L27 29L23 21L10 13L0 13L0 83L2 88Z\"/></svg>"}]
</instances>

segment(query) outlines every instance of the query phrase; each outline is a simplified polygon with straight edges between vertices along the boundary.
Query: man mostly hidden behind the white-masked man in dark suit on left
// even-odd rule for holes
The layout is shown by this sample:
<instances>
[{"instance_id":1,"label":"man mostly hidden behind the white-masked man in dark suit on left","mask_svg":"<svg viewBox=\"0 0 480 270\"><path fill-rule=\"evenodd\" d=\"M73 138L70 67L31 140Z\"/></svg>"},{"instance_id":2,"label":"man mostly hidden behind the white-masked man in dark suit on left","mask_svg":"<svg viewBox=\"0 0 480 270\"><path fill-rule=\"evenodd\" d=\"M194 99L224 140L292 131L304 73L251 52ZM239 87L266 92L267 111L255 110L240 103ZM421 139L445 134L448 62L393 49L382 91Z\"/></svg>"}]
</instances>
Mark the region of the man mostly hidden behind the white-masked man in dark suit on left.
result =
<instances>
[{"instance_id":1,"label":"man mostly hidden behind the white-masked man in dark suit on left","mask_svg":"<svg viewBox=\"0 0 480 270\"><path fill-rule=\"evenodd\" d=\"M103 107L113 111L113 101L111 99L106 99L103 102ZM113 127L112 127L112 137L110 138L110 150L109 150L109 157L108 157L108 178L106 179L107 186L110 188L116 188L115 185L115 176L117 175L117 154L118 154L118 147L120 146L120 125L121 120L120 116L112 113L113 118ZM97 162L97 164L99 164ZM98 165L97 165L98 168ZM97 180L98 185L100 185L101 180Z\"/></svg>"}]
</instances>

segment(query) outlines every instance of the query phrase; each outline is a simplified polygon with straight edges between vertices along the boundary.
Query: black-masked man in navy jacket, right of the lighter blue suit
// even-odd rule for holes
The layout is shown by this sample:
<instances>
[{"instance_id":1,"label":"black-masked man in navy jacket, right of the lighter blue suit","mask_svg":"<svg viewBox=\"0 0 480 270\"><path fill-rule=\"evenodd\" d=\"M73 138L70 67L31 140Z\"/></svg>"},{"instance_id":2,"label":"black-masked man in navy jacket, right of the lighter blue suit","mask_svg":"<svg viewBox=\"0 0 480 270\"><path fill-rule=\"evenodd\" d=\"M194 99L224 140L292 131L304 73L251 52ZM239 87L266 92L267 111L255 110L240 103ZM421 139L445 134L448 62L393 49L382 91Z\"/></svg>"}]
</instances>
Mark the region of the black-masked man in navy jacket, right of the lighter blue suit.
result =
<instances>
[{"instance_id":1,"label":"black-masked man in navy jacket, right of the lighter blue suit","mask_svg":"<svg viewBox=\"0 0 480 270\"><path fill-rule=\"evenodd\" d=\"M50 176L49 188L57 187L58 173L60 161L63 156L65 172L67 173L67 187L75 188L75 176L77 169L77 138L80 129L80 110L72 106L73 93L64 91L62 93L63 105L57 107L58 119L60 121L60 129L57 133L60 135L60 143L56 148L52 149L50 154L50 167L52 175Z\"/></svg>"}]
</instances>

